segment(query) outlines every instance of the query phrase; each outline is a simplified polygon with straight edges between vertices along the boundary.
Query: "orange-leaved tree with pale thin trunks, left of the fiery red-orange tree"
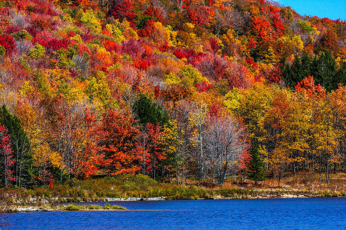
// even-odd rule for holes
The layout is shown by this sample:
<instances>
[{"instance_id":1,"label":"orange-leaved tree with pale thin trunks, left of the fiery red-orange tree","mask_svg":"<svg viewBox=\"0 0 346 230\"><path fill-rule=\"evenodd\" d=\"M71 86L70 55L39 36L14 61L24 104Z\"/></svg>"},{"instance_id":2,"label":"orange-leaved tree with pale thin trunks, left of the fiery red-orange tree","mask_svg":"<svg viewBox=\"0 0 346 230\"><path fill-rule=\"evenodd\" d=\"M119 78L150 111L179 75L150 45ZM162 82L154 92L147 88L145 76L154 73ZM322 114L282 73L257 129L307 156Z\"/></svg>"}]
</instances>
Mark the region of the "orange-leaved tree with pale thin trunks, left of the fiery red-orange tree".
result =
<instances>
[{"instance_id":1,"label":"orange-leaved tree with pale thin trunks, left of the fiery red-orange tree","mask_svg":"<svg viewBox=\"0 0 346 230\"><path fill-rule=\"evenodd\" d=\"M69 104L61 96L51 109L48 116L55 139L53 148L61 154L62 168L70 178L90 177L101 160L95 148L95 118L85 106Z\"/></svg>"}]
</instances>

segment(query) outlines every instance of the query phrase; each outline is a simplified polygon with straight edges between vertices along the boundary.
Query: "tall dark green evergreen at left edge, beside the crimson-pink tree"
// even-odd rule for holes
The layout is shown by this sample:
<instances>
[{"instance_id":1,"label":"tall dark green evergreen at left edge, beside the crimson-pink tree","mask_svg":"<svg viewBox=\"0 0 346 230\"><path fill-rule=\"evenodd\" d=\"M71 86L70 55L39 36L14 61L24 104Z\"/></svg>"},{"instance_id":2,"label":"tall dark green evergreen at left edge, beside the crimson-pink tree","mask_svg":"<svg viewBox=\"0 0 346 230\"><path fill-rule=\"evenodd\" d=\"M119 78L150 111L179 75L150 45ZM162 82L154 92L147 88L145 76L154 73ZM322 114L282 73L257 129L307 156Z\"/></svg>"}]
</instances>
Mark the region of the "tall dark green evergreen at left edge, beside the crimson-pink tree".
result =
<instances>
[{"instance_id":1,"label":"tall dark green evergreen at left edge, beside the crimson-pink tree","mask_svg":"<svg viewBox=\"0 0 346 230\"><path fill-rule=\"evenodd\" d=\"M12 166L15 171L16 186L29 186L33 177L33 156L29 152L29 140L20 125L20 119L8 111L6 105L0 109L0 123L8 129L11 135L13 158L16 160Z\"/></svg>"}]
</instances>

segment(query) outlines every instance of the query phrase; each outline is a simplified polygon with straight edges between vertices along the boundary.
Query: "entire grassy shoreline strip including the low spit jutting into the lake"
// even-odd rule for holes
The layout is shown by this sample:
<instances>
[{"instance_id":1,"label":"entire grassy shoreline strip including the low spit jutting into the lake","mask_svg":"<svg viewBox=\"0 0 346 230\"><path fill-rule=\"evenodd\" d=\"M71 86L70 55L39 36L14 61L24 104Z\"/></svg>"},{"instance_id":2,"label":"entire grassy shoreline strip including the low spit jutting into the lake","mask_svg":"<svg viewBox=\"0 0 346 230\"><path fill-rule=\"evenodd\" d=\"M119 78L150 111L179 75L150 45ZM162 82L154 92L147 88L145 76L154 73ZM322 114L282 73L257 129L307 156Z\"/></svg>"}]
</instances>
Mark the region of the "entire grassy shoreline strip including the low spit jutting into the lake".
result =
<instances>
[{"instance_id":1,"label":"entire grassy shoreline strip including the low spit jutting into the lake","mask_svg":"<svg viewBox=\"0 0 346 230\"><path fill-rule=\"evenodd\" d=\"M84 181L73 179L66 183L54 183L52 188L47 185L33 189L13 189L16 190L16 195L8 199L7 208L1 212L126 210L108 203L104 207L94 204L56 205L72 202L346 197L344 173L333 174L333 180L328 185L323 181L303 181L301 178L301 175L299 178L287 177L282 187L278 187L277 182L272 179L257 185L249 180L239 180L237 183L227 181L224 186L211 182L203 182L202 186L197 186L192 180L186 185L159 183L140 174L106 176Z\"/></svg>"}]
</instances>

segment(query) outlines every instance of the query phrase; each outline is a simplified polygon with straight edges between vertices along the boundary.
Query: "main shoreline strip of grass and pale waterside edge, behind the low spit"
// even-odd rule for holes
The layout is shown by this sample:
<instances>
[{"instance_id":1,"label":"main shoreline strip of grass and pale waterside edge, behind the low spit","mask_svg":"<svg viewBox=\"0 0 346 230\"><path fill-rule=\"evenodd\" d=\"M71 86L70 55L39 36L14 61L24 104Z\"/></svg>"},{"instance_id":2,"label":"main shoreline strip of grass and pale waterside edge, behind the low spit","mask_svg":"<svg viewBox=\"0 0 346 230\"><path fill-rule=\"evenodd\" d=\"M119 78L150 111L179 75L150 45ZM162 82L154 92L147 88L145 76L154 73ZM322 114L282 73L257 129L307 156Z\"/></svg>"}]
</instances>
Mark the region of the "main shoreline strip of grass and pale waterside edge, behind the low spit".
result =
<instances>
[{"instance_id":1,"label":"main shoreline strip of grass and pale waterside edge, behind the low spit","mask_svg":"<svg viewBox=\"0 0 346 230\"><path fill-rule=\"evenodd\" d=\"M346 178L346 173L342 177ZM8 203L44 205L72 202L346 197L346 186L340 184L329 184L326 187L327 184L321 183L314 184L311 188L306 184L297 184L297 187L283 184L280 188L268 184L252 186L231 182L224 186L207 185L210 184L198 186L194 183L158 183L142 175L121 175L56 183L53 188L45 185L32 189L12 189L16 195L9 198Z\"/></svg>"}]
</instances>

